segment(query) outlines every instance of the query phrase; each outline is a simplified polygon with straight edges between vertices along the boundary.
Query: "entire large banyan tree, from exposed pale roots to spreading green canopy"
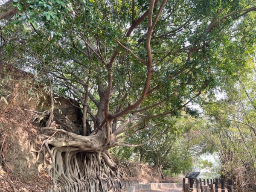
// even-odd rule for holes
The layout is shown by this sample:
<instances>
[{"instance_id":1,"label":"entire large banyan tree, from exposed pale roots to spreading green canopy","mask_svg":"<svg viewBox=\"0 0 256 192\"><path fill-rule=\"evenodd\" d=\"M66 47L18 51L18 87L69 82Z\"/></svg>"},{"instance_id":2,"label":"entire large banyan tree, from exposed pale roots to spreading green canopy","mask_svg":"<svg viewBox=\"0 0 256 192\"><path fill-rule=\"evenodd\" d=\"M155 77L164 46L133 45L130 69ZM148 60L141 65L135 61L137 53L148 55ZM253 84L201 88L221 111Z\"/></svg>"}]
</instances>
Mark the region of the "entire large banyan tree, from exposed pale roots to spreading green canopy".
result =
<instances>
[{"instance_id":1,"label":"entire large banyan tree, from exposed pale roots to spreading green canopy","mask_svg":"<svg viewBox=\"0 0 256 192\"><path fill-rule=\"evenodd\" d=\"M194 114L189 104L203 93L201 99L214 95L255 52L255 11L254 0L2 5L2 60L50 87L52 107L42 131L55 190L106 190L113 184L106 178L118 175L110 148L148 143L157 138L127 143L125 137L160 124L169 131L170 116ZM79 102L83 135L51 126L55 93Z\"/></svg>"}]
</instances>

